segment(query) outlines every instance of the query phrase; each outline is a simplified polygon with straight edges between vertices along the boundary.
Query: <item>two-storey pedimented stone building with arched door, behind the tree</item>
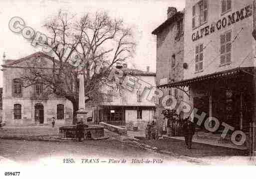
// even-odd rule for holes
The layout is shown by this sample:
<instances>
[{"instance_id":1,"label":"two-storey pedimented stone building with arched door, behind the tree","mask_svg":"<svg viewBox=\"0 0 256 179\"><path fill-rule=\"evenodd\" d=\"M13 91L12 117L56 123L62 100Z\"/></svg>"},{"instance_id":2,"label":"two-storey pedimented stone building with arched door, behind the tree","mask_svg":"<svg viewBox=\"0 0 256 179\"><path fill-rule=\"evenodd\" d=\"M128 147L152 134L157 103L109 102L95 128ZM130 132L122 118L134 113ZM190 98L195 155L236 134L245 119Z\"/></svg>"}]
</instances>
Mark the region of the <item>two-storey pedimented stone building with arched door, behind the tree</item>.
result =
<instances>
[{"instance_id":1,"label":"two-storey pedimented stone building with arched door, behind the tree","mask_svg":"<svg viewBox=\"0 0 256 179\"><path fill-rule=\"evenodd\" d=\"M40 57L43 56L43 57ZM36 52L17 60L3 60L2 116L8 125L45 125L52 117L56 125L70 124L73 118L72 103L56 95L45 95L40 84L24 88L22 72L35 57L43 58L45 69L50 69L50 56Z\"/></svg>"}]
</instances>

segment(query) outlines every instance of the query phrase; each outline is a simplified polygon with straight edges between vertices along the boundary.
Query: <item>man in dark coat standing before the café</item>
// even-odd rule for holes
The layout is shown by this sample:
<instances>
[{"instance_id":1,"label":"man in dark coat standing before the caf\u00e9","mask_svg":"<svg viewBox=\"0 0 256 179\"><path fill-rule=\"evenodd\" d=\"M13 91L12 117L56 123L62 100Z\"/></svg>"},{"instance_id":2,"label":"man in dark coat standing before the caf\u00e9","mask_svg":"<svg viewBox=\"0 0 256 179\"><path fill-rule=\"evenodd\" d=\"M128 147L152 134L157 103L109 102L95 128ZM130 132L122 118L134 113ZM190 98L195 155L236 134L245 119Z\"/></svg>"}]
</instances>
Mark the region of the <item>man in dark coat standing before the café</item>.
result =
<instances>
[{"instance_id":1,"label":"man in dark coat standing before the caf\u00e9","mask_svg":"<svg viewBox=\"0 0 256 179\"><path fill-rule=\"evenodd\" d=\"M195 127L189 118L185 119L185 123L183 125L183 132L184 132L185 143L187 145L187 148L191 149L192 138L195 134Z\"/></svg>"}]
</instances>

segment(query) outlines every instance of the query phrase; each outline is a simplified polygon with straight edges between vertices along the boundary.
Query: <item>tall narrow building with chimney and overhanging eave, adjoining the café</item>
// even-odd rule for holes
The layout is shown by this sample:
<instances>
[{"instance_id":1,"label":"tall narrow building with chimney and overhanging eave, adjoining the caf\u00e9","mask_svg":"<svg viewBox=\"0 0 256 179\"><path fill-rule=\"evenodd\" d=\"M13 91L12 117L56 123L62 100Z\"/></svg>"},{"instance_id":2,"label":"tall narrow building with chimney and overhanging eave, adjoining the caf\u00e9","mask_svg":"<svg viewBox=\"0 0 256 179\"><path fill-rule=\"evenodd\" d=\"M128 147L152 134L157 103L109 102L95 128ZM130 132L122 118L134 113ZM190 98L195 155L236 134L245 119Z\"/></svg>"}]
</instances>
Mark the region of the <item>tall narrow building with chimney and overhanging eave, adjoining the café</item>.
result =
<instances>
[{"instance_id":1,"label":"tall narrow building with chimney and overhanging eave, adjoining the caf\u00e9","mask_svg":"<svg viewBox=\"0 0 256 179\"><path fill-rule=\"evenodd\" d=\"M184 10L175 7L167 10L167 20L159 25L152 34L157 36L156 56L156 84L164 96L175 96L179 101L183 99L183 91L171 88L170 84L183 79L184 58ZM161 99L159 101L161 104ZM156 114L160 126L166 127L167 121L161 114L164 108L157 106ZM182 118L182 116L181 116Z\"/></svg>"}]
</instances>

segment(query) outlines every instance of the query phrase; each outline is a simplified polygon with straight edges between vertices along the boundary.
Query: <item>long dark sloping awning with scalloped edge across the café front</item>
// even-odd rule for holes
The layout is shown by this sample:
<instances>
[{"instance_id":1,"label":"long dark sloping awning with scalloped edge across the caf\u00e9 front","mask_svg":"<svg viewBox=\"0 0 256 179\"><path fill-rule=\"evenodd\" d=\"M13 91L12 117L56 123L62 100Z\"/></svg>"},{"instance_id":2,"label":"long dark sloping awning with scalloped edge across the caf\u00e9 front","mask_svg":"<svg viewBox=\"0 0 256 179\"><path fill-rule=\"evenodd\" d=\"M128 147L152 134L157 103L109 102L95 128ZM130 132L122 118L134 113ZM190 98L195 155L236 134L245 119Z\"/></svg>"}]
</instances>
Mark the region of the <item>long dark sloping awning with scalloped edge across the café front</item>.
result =
<instances>
[{"instance_id":1,"label":"long dark sloping awning with scalloped edge across the caf\u00e9 front","mask_svg":"<svg viewBox=\"0 0 256 179\"><path fill-rule=\"evenodd\" d=\"M184 87L184 86L190 86L197 82L202 82L204 80L214 80L214 79L221 79L226 77L235 77L242 74L249 74L253 76L255 69L256 69L255 67L239 67L239 68L234 68L234 69L225 70L221 72L215 72L212 74L207 74L204 76L198 76L198 77L187 79L187 80L181 80L181 81L173 82L170 84L159 85L158 87L159 88Z\"/></svg>"}]
</instances>

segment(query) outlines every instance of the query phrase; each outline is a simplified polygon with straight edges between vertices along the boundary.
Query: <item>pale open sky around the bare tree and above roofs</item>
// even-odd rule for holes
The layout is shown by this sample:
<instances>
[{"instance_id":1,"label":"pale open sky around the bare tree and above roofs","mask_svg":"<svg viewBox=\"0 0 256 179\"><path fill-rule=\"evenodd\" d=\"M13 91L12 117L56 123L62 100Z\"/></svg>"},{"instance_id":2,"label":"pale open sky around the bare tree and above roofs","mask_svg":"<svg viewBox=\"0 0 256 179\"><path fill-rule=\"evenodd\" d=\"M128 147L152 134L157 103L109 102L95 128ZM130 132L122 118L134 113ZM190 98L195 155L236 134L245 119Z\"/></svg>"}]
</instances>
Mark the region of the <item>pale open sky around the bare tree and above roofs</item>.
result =
<instances>
[{"instance_id":1,"label":"pale open sky around the bare tree and above roofs","mask_svg":"<svg viewBox=\"0 0 256 179\"><path fill-rule=\"evenodd\" d=\"M0 0L0 64L3 52L5 59L19 59L40 50L21 34L10 31L8 23L12 17L21 17L27 26L43 33L45 19L61 8L77 17L83 12L107 11L113 18L122 18L135 29L137 41L136 54L127 61L128 67L146 70L150 66L150 71L155 72L156 36L151 32L166 20L169 6L183 10L185 0Z\"/></svg>"}]
</instances>

